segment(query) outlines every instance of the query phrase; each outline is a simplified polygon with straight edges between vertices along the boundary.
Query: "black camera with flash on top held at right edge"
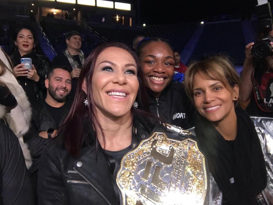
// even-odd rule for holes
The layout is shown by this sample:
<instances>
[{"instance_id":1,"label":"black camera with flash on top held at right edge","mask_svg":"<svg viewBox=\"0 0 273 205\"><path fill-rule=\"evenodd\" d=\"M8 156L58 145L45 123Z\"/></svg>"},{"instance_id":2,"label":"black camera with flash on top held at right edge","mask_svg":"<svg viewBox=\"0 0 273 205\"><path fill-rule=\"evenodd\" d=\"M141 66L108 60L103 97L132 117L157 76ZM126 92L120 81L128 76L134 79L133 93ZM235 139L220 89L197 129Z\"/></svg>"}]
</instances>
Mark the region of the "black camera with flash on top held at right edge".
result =
<instances>
[{"instance_id":1,"label":"black camera with flash on top held at right edge","mask_svg":"<svg viewBox=\"0 0 273 205\"><path fill-rule=\"evenodd\" d=\"M255 42L252 46L251 53L255 59L264 59L267 56L272 56L272 45L273 37L269 35L272 30L272 15L270 4L262 4L256 6L257 19L259 23L259 30L263 33L261 41Z\"/></svg>"}]
</instances>

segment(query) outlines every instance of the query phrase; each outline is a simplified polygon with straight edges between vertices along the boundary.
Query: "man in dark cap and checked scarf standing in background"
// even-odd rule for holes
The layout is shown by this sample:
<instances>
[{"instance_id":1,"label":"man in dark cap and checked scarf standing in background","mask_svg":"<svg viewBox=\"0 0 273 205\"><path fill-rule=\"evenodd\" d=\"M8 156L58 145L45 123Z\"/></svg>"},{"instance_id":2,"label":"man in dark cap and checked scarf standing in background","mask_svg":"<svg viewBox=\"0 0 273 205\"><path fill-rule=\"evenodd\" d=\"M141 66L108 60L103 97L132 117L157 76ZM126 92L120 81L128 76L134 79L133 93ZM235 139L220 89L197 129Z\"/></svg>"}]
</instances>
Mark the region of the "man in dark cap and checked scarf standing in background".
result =
<instances>
[{"instance_id":1,"label":"man in dark cap and checked scarf standing in background","mask_svg":"<svg viewBox=\"0 0 273 205\"><path fill-rule=\"evenodd\" d=\"M72 77L72 88L69 97L74 99L80 69L85 61L84 53L80 50L82 36L78 31L70 31L65 34L67 49L53 58L53 66L67 66Z\"/></svg>"}]
</instances>

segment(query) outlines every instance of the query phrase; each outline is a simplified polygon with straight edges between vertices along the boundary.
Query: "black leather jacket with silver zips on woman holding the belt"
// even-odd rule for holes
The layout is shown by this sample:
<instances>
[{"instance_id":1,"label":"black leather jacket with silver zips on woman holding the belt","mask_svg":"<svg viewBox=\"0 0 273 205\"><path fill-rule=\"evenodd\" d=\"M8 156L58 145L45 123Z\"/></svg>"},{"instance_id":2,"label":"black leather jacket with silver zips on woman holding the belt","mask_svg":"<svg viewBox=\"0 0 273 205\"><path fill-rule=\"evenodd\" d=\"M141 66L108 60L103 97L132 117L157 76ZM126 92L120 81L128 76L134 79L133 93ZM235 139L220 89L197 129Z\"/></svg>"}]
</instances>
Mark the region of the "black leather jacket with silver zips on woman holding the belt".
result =
<instances>
[{"instance_id":1,"label":"black leather jacket with silver zips on woman holding the belt","mask_svg":"<svg viewBox=\"0 0 273 205\"><path fill-rule=\"evenodd\" d=\"M152 134L154 125L148 120L134 116L133 132L139 143ZM168 132L161 125L156 131L164 131L169 137L183 139L185 136ZM60 136L61 137L61 136ZM63 143L54 138L42 153L38 176L40 205L61 204L120 204L115 179L111 174L110 162L102 148L96 150L94 134L89 132L93 143L82 147L80 156L72 157ZM130 150L129 150L130 151Z\"/></svg>"}]
</instances>

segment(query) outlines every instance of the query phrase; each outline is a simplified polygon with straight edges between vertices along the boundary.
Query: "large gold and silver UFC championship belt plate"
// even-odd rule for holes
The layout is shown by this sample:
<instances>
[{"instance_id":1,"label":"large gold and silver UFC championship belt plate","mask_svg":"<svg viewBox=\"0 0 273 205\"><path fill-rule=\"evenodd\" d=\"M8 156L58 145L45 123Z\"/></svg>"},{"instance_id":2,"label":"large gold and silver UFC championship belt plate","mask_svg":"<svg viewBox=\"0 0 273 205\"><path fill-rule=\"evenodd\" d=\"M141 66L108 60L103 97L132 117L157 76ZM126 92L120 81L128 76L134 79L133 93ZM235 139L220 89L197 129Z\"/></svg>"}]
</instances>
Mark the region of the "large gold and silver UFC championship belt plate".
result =
<instances>
[{"instance_id":1,"label":"large gold and silver UFC championship belt plate","mask_svg":"<svg viewBox=\"0 0 273 205\"><path fill-rule=\"evenodd\" d=\"M163 124L171 132L191 134ZM204 204L207 189L204 155L191 138L175 140L154 132L121 160L117 185L123 205Z\"/></svg>"}]
</instances>

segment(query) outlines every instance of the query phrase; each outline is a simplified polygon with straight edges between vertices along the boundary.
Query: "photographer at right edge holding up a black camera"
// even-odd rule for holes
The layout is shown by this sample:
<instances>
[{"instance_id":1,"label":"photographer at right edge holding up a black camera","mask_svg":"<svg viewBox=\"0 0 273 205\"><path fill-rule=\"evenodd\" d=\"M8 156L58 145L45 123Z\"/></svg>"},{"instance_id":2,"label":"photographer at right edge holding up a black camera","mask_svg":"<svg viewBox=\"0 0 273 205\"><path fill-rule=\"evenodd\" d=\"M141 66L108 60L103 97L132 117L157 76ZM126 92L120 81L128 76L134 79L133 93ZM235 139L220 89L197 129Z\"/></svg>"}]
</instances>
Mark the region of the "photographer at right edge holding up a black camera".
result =
<instances>
[{"instance_id":1,"label":"photographer at right edge holding up a black camera","mask_svg":"<svg viewBox=\"0 0 273 205\"><path fill-rule=\"evenodd\" d=\"M257 16L261 38L245 47L240 96L243 102L250 99L246 108L249 115L273 117L273 31L269 4L258 6Z\"/></svg>"}]
</instances>

